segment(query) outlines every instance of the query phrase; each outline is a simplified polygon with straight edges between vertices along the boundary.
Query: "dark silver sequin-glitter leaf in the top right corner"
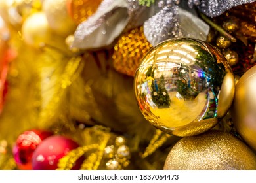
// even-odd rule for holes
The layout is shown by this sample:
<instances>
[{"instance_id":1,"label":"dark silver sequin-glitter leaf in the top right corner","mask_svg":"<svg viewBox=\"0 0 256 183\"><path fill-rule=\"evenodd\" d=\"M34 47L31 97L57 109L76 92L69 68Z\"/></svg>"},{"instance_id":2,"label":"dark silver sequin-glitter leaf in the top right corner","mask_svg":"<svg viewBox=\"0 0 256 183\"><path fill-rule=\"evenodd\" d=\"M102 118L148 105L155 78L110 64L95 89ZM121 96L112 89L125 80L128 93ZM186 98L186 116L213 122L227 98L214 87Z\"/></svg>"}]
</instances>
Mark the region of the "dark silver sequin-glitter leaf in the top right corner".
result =
<instances>
[{"instance_id":1,"label":"dark silver sequin-glitter leaf in the top right corner","mask_svg":"<svg viewBox=\"0 0 256 183\"><path fill-rule=\"evenodd\" d=\"M223 12L232 7L253 2L255 0L201 0L198 9L209 17L215 17L223 14Z\"/></svg>"}]
</instances>

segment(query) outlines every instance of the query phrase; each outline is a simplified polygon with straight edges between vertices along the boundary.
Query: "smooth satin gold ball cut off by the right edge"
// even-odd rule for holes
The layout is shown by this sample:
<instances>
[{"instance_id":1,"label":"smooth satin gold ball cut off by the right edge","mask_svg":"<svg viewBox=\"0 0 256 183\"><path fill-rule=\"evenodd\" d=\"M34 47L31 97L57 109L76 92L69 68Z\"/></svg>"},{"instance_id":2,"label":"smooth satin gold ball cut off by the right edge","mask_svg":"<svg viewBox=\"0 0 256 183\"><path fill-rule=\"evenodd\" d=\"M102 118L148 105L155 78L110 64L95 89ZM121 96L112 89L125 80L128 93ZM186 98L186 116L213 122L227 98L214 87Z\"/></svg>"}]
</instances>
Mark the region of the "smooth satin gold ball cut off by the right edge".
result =
<instances>
[{"instance_id":1,"label":"smooth satin gold ball cut off by the right edge","mask_svg":"<svg viewBox=\"0 0 256 183\"><path fill-rule=\"evenodd\" d=\"M256 66L241 76L236 84L231 108L236 130L256 150Z\"/></svg>"}]
</instances>

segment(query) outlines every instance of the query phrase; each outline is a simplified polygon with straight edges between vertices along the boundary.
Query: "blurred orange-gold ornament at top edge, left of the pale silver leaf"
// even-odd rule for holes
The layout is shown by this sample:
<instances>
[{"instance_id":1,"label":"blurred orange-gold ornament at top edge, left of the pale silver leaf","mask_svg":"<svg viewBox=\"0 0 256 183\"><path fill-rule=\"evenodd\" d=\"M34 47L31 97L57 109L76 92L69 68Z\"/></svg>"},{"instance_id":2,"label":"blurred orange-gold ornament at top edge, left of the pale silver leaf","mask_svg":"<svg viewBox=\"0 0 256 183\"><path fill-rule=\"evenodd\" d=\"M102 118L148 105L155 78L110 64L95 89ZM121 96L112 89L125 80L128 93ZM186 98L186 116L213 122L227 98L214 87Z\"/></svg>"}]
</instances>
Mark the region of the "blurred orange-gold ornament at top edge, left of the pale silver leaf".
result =
<instances>
[{"instance_id":1,"label":"blurred orange-gold ornament at top edge, left of the pale silver leaf","mask_svg":"<svg viewBox=\"0 0 256 183\"><path fill-rule=\"evenodd\" d=\"M68 0L68 14L77 24L80 24L96 12L100 3L102 0Z\"/></svg>"}]
</instances>

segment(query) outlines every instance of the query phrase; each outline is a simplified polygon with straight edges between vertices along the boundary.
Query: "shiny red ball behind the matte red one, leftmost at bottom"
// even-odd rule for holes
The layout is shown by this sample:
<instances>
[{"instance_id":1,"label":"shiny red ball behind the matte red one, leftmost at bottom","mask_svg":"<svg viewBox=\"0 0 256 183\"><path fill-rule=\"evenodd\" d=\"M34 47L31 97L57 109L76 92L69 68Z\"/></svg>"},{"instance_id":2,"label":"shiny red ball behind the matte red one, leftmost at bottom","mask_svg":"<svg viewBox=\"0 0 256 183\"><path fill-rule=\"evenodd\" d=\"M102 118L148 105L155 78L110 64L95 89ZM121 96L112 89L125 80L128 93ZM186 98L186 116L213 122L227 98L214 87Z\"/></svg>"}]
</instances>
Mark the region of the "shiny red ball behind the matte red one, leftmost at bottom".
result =
<instances>
[{"instance_id":1,"label":"shiny red ball behind the matte red one, leftmost at bottom","mask_svg":"<svg viewBox=\"0 0 256 183\"><path fill-rule=\"evenodd\" d=\"M49 131L30 130L18 136L16 144L12 149L18 169L32 169L32 155L35 148L47 137L53 135Z\"/></svg>"}]
</instances>

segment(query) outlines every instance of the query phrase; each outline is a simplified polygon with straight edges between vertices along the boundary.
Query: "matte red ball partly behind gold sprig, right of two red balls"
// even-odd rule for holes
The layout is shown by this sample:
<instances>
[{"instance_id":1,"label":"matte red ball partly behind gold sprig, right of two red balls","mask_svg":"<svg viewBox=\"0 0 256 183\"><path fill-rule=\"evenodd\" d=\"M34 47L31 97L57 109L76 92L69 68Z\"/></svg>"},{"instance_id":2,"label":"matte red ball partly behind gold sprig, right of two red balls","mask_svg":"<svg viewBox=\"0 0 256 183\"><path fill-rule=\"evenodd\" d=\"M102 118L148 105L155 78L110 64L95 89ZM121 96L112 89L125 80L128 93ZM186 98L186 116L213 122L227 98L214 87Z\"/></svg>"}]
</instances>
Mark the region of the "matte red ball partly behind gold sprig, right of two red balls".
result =
<instances>
[{"instance_id":1,"label":"matte red ball partly behind gold sprig, right of two red balls","mask_svg":"<svg viewBox=\"0 0 256 183\"><path fill-rule=\"evenodd\" d=\"M32 169L54 170L58 168L58 160L68 154L70 150L78 148L79 145L72 139L61 135L54 135L45 139L33 152ZM83 163L83 157L79 158L73 169L79 169Z\"/></svg>"}]
</instances>

